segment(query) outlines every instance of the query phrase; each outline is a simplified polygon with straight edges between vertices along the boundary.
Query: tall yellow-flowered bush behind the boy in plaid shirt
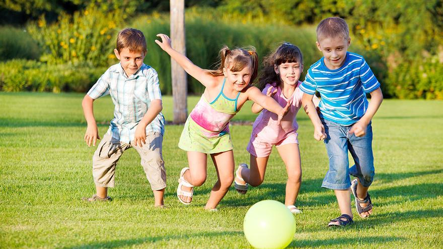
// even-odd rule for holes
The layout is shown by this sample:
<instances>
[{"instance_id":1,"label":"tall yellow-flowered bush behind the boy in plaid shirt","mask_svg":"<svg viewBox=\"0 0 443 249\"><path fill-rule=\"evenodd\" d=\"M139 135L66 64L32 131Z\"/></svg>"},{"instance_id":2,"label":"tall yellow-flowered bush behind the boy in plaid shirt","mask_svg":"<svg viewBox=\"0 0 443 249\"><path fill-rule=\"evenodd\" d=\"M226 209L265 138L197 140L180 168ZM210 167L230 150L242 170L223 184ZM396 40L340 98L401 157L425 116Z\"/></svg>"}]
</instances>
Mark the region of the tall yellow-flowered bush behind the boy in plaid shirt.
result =
<instances>
[{"instance_id":1,"label":"tall yellow-flowered bush behind the boy in plaid shirt","mask_svg":"<svg viewBox=\"0 0 443 249\"><path fill-rule=\"evenodd\" d=\"M53 24L47 24L42 16L37 23L28 25L28 30L44 49L41 61L50 65L106 66L109 59L115 58L113 49L123 25L122 16L119 9L102 12L91 5L73 16L62 13Z\"/></svg>"}]
</instances>

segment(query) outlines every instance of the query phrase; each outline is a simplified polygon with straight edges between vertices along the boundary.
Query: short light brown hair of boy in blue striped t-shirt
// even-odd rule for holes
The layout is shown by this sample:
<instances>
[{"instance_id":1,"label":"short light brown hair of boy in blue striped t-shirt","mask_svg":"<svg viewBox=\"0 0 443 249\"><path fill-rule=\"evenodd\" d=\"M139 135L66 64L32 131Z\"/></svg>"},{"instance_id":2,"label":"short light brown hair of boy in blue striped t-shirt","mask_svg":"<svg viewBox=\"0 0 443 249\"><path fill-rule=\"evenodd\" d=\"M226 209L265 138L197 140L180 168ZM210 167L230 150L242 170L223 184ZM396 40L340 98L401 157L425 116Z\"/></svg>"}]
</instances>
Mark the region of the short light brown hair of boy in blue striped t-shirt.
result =
<instances>
[{"instance_id":1,"label":"short light brown hair of boy in blue striped t-shirt","mask_svg":"<svg viewBox=\"0 0 443 249\"><path fill-rule=\"evenodd\" d=\"M329 17L323 19L317 26L317 41L327 37L349 38L349 27L346 21L339 17Z\"/></svg>"}]
</instances>

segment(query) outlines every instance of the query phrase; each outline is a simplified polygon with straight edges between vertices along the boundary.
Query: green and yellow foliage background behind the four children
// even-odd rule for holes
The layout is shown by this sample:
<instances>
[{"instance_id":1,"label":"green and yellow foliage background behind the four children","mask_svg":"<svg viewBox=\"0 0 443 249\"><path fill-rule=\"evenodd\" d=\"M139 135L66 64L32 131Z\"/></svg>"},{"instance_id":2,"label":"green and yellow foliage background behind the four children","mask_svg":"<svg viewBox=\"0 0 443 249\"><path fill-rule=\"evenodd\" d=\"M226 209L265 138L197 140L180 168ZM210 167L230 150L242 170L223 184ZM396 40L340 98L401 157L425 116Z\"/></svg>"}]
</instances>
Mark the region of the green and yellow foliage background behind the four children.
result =
<instances>
[{"instance_id":1,"label":"green and yellow foliage background behind the four children","mask_svg":"<svg viewBox=\"0 0 443 249\"><path fill-rule=\"evenodd\" d=\"M309 67L321 57L314 44L317 23L325 17L340 16L351 31L350 51L365 57L382 82L385 97L443 99L441 0L186 1L186 7L187 55L201 67L216 62L221 44L251 44L264 56L281 41L299 45L305 55L305 67ZM7 70L8 60L13 58L38 60L49 66L64 64L79 73L84 68L107 67L116 63L112 48L118 30L131 26L145 33L150 47L145 62L159 71L163 93L171 94L170 59L153 43L158 32L169 33L168 12L168 1L2 2L0 14L4 15L0 15L0 24L7 26L0 27L0 58L6 62L0 67ZM28 49L20 44L29 44L25 46L32 49L24 52ZM37 89L20 87L33 85L30 82L4 87L8 76L3 74L0 89L88 89L96 81L95 74L90 75L82 81L81 88L53 90L49 81L46 87ZM66 84L60 85L69 86L72 81L75 80L68 78ZM201 93L195 80L190 78L189 82L190 93Z\"/></svg>"}]
</instances>

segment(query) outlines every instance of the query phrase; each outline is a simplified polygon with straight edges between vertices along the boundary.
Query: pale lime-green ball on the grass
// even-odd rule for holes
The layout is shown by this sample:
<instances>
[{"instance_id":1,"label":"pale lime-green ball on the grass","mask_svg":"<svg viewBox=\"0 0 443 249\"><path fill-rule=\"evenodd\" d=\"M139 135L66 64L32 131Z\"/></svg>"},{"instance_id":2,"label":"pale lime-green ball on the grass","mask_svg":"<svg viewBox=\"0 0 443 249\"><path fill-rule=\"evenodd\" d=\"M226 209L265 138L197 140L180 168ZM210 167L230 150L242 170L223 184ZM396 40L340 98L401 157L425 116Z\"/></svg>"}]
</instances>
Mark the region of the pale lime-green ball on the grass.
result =
<instances>
[{"instance_id":1,"label":"pale lime-green ball on the grass","mask_svg":"<svg viewBox=\"0 0 443 249\"><path fill-rule=\"evenodd\" d=\"M260 201L246 213L243 231L256 248L284 248L294 237L296 220L281 202Z\"/></svg>"}]
</instances>

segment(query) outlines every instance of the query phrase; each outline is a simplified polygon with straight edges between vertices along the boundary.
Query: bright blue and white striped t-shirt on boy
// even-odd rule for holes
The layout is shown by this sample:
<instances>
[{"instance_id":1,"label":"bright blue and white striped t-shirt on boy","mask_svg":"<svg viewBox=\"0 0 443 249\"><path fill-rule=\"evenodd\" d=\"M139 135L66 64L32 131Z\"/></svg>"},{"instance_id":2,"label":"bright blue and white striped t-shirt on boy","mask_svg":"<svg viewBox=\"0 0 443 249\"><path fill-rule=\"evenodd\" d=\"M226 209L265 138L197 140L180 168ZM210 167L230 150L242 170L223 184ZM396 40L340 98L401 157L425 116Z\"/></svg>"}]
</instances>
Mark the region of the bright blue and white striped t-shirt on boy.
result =
<instances>
[{"instance_id":1,"label":"bright blue and white striped t-shirt on boy","mask_svg":"<svg viewBox=\"0 0 443 249\"><path fill-rule=\"evenodd\" d=\"M351 125L366 112L366 93L379 87L364 58L347 52L344 64L338 69L328 69L324 57L311 65L300 89L310 95L316 90L320 93L320 116L324 119Z\"/></svg>"}]
</instances>

